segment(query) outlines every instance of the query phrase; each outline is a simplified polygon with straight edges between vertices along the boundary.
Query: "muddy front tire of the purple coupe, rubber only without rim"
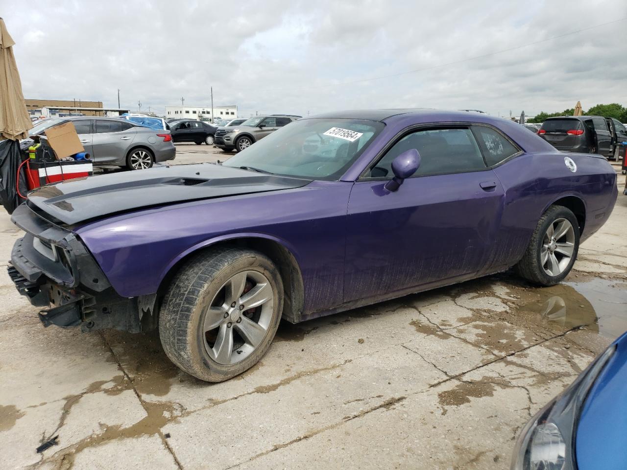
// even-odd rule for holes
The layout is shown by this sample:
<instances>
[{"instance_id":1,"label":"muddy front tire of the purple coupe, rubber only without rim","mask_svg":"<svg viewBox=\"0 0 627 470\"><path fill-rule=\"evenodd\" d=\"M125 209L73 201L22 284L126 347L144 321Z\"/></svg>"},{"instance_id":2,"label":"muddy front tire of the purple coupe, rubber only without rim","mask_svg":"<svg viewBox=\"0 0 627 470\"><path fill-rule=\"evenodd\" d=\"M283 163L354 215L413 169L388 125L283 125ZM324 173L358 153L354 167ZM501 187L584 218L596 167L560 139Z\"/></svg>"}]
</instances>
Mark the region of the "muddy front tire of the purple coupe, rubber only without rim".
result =
<instances>
[{"instance_id":1,"label":"muddy front tire of the purple coupe, rubber only without rim","mask_svg":"<svg viewBox=\"0 0 627 470\"><path fill-rule=\"evenodd\" d=\"M240 362L223 365L205 347L204 316L229 279L243 271L263 274L273 290L273 310L263 340ZM198 379L222 382L255 365L272 342L283 310L283 283L276 266L256 251L216 248L192 256L172 279L159 316L159 337L167 357Z\"/></svg>"}]
</instances>

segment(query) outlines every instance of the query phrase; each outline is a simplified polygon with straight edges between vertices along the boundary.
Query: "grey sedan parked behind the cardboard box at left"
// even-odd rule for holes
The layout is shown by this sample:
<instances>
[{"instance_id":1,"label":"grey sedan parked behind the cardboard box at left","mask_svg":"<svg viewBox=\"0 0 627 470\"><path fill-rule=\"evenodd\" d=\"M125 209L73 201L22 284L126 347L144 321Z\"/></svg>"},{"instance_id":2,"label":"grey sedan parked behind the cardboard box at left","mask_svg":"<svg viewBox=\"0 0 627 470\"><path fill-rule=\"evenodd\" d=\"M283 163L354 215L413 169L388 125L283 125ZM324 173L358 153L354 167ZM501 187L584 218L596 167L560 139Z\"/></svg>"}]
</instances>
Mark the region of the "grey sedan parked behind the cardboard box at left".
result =
<instances>
[{"instance_id":1,"label":"grey sedan parked behind the cardboard box at left","mask_svg":"<svg viewBox=\"0 0 627 470\"><path fill-rule=\"evenodd\" d=\"M154 162L172 160L176 148L169 130L152 129L120 118L63 117L42 121L29 135L42 135L55 125L72 122L85 152L96 166L143 170Z\"/></svg>"}]
</instances>

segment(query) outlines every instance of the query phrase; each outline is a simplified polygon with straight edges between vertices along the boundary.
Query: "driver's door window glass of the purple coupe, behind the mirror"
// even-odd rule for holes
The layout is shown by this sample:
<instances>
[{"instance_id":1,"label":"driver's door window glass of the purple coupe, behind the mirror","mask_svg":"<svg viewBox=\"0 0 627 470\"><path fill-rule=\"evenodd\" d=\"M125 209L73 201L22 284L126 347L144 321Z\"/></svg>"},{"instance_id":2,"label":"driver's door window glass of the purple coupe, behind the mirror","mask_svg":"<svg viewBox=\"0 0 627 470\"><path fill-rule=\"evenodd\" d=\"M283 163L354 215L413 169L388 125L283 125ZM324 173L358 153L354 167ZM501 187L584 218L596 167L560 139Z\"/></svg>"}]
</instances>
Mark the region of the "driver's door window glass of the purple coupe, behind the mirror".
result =
<instances>
[{"instance_id":1,"label":"driver's door window glass of the purple coupe, behind the mirror","mask_svg":"<svg viewBox=\"0 0 627 470\"><path fill-rule=\"evenodd\" d=\"M416 149L420 166L413 177L485 170L485 163L469 128L419 130L401 138L370 171L370 177L391 177L392 162Z\"/></svg>"}]
</instances>

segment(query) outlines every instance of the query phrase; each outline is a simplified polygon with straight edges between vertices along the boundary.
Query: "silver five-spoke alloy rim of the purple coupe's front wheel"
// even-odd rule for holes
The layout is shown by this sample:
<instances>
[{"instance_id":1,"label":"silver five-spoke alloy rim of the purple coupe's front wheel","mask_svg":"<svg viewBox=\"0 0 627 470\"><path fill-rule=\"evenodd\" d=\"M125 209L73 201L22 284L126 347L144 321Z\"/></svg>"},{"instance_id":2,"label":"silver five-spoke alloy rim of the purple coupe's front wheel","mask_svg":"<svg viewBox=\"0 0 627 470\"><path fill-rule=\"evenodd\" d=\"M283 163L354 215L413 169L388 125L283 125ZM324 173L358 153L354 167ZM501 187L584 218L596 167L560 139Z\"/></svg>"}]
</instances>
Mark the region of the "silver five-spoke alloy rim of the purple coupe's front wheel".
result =
<instances>
[{"instance_id":1,"label":"silver five-spoke alloy rim of the purple coupe's front wheel","mask_svg":"<svg viewBox=\"0 0 627 470\"><path fill-rule=\"evenodd\" d=\"M224 283L204 314L206 352L215 362L241 362L260 345L272 320L275 293L258 271L243 271Z\"/></svg>"}]
</instances>

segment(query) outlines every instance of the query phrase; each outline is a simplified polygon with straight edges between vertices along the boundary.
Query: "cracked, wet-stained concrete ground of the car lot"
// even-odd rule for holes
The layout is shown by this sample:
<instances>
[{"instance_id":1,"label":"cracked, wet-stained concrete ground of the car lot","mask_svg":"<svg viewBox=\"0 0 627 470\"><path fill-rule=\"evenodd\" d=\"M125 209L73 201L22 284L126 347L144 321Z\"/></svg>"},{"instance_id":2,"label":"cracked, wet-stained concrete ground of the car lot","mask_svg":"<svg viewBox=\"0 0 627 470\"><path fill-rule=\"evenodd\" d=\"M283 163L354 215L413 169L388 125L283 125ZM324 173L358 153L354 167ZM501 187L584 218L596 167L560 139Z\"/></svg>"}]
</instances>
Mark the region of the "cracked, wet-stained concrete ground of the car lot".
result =
<instances>
[{"instance_id":1,"label":"cracked, wet-stained concrete ground of the car lot","mask_svg":"<svg viewBox=\"0 0 627 470\"><path fill-rule=\"evenodd\" d=\"M0 214L0 259L19 236ZM561 285L505 273L282 323L222 384L156 335L43 328L4 271L0 290L3 468L508 469L529 417L627 330L627 196Z\"/></svg>"}]
</instances>

